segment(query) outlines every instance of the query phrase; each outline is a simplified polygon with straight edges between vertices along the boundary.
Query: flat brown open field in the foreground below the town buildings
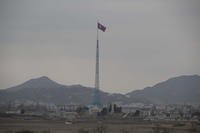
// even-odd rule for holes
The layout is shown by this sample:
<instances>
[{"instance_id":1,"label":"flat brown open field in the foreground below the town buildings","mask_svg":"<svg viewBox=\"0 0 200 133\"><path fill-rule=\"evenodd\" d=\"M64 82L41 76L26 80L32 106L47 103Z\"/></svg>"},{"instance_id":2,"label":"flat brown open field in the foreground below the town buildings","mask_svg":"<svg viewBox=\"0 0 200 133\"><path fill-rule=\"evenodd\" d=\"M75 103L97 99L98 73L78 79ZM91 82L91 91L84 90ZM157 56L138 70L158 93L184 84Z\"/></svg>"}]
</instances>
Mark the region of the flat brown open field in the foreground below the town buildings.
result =
<instances>
[{"instance_id":1,"label":"flat brown open field in the foreground below the town buildings","mask_svg":"<svg viewBox=\"0 0 200 133\"><path fill-rule=\"evenodd\" d=\"M191 123L150 123L115 121L82 121L65 123L63 120L40 118L1 118L0 133L29 130L37 133L199 133L200 125ZM101 131L100 131L101 130Z\"/></svg>"}]
</instances>

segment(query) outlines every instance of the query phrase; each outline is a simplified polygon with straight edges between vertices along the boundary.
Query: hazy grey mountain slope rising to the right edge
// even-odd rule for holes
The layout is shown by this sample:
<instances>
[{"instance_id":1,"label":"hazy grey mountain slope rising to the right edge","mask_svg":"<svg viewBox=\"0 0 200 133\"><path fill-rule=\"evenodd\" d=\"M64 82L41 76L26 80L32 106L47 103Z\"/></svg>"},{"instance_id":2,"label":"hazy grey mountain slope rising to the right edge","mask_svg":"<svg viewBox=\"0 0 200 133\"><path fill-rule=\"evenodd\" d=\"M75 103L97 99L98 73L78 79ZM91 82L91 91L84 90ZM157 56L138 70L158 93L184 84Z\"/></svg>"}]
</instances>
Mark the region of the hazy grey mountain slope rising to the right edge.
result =
<instances>
[{"instance_id":1,"label":"hazy grey mountain slope rising to the right edge","mask_svg":"<svg viewBox=\"0 0 200 133\"><path fill-rule=\"evenodd\" d=\"M180 76L126 94L151 103L200 103L200 76Z\"/></svg>"}]
</instances>

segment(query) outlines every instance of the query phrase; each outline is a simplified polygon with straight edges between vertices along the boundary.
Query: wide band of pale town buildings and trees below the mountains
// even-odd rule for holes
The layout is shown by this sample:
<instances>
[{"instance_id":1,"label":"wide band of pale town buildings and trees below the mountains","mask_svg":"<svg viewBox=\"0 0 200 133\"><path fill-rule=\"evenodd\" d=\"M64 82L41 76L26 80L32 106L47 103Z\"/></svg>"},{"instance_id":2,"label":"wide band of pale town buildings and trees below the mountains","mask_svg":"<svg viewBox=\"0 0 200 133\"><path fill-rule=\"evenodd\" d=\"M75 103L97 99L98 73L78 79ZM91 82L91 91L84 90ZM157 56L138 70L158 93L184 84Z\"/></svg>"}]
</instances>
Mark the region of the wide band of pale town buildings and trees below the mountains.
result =
<instances>
[{"instance_id":1,"label":"wide band of pale town buildings and trees below the mountains","mask_svg":"<svg viewBox=\"0 0 200 133\"><path fill-rule=\"evenodd\" d=\"M145 121L200 121L200 105L170 104L156 105L132 103L126 105L108 104L103 107L78 104L12 103L0 105L0 113L39 116L50 119L73 120L81 116L115 116L120 119ZM107 117L109 118L109 117Z\"/></svg>"}]
</instances>

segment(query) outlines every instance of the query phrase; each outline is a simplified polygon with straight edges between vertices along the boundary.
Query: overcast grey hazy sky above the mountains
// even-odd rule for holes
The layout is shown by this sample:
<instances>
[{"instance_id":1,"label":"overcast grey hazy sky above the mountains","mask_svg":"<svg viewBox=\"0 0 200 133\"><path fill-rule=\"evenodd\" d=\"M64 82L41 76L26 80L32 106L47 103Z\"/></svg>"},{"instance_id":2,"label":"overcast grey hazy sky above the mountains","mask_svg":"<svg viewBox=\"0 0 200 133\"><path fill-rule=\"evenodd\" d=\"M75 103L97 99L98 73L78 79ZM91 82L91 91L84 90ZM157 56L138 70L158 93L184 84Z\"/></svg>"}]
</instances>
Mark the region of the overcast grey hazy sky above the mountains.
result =
<instances>
[{"instance_id":1,"label":"overcast grey hazy sky above the mountains","mask_svg":"<svg viewBox=\"0 0 200 133\"><path fill-rule=\"evenodd\" d=\"M200 0L0 0L0 88L48 76L126 93L200 74Z\"/></svg>"}]
</instances>

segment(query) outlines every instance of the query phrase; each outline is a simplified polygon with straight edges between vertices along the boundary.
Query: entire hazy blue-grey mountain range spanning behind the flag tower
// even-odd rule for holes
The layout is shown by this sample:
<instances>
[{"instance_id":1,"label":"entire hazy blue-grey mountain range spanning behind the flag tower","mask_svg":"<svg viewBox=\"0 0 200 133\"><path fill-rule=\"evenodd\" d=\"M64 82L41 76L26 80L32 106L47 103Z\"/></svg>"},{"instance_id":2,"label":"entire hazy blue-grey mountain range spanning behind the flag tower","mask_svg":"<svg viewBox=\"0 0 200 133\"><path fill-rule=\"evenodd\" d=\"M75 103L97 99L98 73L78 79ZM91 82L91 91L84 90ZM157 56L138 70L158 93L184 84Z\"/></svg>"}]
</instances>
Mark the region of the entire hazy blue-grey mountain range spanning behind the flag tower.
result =
<instances>
[{"instance_id":1,"label":"entire hazy blue-grey mountain range spanning behind the flag tower","mask_svg":"<svg viewBox=\"0 0 200 133\"><path fill-rule=\"evenodd\" d=\"M0 103L33 101L56 104L91 104L94 88L82 85L61 85L48 77L40 77L0 90ZM180 76L160 82L153 87L132 91L125 95L101 91L102 103L200 103L200 76Z\"/></svg>"}]
</instances>

